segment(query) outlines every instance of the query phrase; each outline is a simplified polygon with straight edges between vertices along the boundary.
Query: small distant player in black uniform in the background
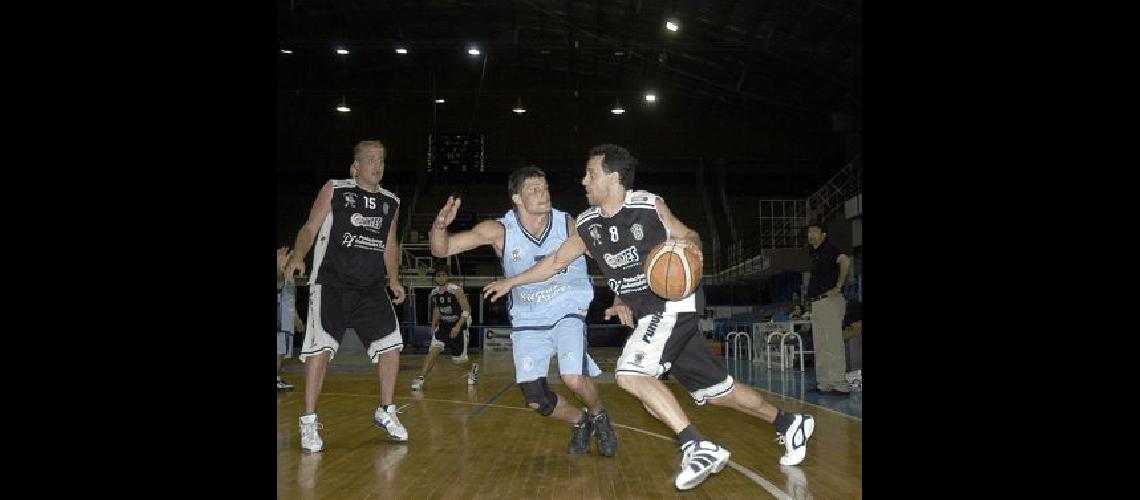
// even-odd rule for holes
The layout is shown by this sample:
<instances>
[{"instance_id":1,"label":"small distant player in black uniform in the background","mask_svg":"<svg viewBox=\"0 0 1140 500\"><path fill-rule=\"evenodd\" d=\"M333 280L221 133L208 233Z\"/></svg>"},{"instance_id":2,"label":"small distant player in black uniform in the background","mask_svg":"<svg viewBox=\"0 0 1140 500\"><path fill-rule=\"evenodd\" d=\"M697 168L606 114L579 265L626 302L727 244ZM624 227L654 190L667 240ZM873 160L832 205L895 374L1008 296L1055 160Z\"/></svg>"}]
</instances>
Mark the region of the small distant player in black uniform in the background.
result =
<instances>
[{"instance_id":1,"label":"small distant player in black uniform in the background","mask_svg":"<svg viewBox=\"0 0 1140 500\"><path fill-rule=\"evenodd\" d=\"M427 295L431 304L431 345L424 367L420 375L412 379L412 390L420 391L424 386L424 377L435 366L435 358L445 349L451 354L451 362L462 363L467 360L467 327L471 323L471 304L463 288L448 282L447 269L435 270L435 288ZM467 371L467 385L475 385L479 379L479 363L472 363Z\"/></svg>"}]
</instances>

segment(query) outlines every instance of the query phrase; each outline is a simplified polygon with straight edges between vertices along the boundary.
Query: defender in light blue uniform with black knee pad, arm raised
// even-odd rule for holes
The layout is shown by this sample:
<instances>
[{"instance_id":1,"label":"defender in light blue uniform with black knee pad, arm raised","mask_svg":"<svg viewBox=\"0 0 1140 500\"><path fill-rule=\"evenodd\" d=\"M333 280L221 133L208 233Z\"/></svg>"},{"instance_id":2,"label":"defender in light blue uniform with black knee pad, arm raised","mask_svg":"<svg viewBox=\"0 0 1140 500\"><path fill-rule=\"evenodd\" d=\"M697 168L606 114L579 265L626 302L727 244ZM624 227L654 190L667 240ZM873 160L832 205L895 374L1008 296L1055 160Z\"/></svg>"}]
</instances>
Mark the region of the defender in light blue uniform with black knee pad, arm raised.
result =
<instances>
[{"instance_id":1,"label":"defender in light blue uniform with black knee pad, arm raised","mask_svg":"<svg viewBox=\"0 0 1140 500\"><path fill-rule=\"evenodd\" d=\"M511 173L507 185L513 210L455 235L449 235L447 227L455 220L461 202L458 197L448 197L429 233L432 255L442 259L490 245L502 260L504 274L512 277L554 253L573 231L575 220L551 207L546 174L538 167L524 166ZM589 378L602 370L586 353L586 311L593 298L585 257L545 281L512 290L514 374L527 405L545 417L573 424L568 452L588 453L591 434L596 434L598 452L613 457L618 451L617 435ZM546 374L555 353L562 382L586 404L587 411L579 411L547 385Z\"/></svg>"}]
</instances>

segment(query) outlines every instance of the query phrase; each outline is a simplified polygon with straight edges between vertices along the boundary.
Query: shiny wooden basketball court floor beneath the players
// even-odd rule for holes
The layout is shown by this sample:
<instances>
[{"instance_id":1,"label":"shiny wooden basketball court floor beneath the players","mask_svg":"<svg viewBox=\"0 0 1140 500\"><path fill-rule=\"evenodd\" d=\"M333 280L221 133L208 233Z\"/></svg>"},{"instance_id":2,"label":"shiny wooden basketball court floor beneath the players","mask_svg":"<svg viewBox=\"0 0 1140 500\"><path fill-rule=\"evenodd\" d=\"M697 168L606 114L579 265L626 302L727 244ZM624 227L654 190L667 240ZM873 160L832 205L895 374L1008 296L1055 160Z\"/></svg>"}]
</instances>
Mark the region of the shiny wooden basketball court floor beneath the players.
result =
<instances>
[{"instance_id":1,"label":"shiny wooden basketball court floor beneath the players","mask_svg":"<svg viewBox=\"0 0 1140 500\"><path fill-rule=\"evenodd\" d=\"M752 417L711 404L697 407L674 380L667 386L706 437L732 458L724 470L694 490L673 485L681 461L676 440L633 396L613 384L620 349L591 349L605 371L595 379L614 423L617 457L565 452L570 425L526 408L514 385L510 353L472 354L481 366L469 386L467 364L440 356L420 394L412 378L423 355L400 356L396 404L408 429L407 443L393 443L372 426L380 385L375 367L360 354L344 353L329 364L317 412L325 451L301 451L298 417L303 408L303 366L286 361L293 392L277 395L277 497L282 499L611 499L611 498L862 498L861 419L759 388L779 408L806 411L816 426L807 459L780 466L783 445L775 429ZM552 388L577 399L551 363ZM743 387L738 385L738 387Z\"/></svg>"}]
</instances>

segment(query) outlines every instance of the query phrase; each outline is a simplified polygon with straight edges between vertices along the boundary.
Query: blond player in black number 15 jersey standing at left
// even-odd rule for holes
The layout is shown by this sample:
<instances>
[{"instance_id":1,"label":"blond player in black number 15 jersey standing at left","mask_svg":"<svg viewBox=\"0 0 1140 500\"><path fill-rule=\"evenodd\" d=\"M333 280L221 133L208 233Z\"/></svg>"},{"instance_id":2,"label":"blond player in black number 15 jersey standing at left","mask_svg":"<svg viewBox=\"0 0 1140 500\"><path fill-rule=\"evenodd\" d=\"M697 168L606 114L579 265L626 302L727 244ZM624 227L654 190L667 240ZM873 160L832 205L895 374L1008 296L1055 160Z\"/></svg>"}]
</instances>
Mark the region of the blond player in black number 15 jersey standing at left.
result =
<instances>
[{"instance_id":1,"label":"blond player in black number 15 jersey standing at left","mask_svg":"<svg viewBox=\"0 0 1140 500\"><path fill-rule=\"evenodd\" d=\"M378 140L357 144L349 173L352 179L331 180L320 188L285 268L285 277L292 281L295 271L303 272L310 247L316 248L308 325L298 356L306 363L301 449L307 452L325 448L318 433L317 397L328 361L348 327L356 330L372 362L378 364L380 408L373 413L373 425L394 441L408 438L392 404L404 349L392 304L404 302L405 290L396 244L400 198L380 186L384 145ZM394 300L388 296L388 288Z\"/></svg>"}]
</instances>

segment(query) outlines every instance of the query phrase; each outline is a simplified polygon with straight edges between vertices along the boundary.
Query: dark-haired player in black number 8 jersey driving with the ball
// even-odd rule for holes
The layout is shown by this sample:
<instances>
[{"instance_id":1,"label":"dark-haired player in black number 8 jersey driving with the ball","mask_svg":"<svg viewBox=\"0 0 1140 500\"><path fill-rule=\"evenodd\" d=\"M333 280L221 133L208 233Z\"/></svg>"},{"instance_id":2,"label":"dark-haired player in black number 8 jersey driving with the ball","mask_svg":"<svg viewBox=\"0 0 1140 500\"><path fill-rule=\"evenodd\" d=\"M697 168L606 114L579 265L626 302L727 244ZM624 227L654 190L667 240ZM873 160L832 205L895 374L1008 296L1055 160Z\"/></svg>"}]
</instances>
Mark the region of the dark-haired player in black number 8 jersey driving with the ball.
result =
<instances>
[{"instance_id":1,"label":"dark-haired player in black number 8 jersey driving with the ball","mask_svg":"<svg viewBox=\"0 0 1140 500\"><path fill-rule=\"evenodd\" d=\"M527 272L483 287L484 296L495 301L513 287L542 281L581 254L589 254L620 298L605 310L605 317L618 315L622 325L634 328L618 359L618 386L641 400L650 415L677 434L683 452L681 473L674 481L678 490L695 487L720 472L731 453L706 440L689 421L677 399L657 378L665 370L671 369L697 404L711 402L773 424L785 450L780 464L801 462L814 419L784 412L750 387L735 386L724 362L709 351L705 337L697 335L697 311L703 310L703 290L698 288L687 297L669 302L649 289L642 261L657 244L669 239L690 246L699 259L703 254L700 235L677 220L663 199L629 189L636 166L637 158L620 146L593 147L581 180L591 208L578 215L577 230L554 254Z\"/></svg>"}]
</instances>

